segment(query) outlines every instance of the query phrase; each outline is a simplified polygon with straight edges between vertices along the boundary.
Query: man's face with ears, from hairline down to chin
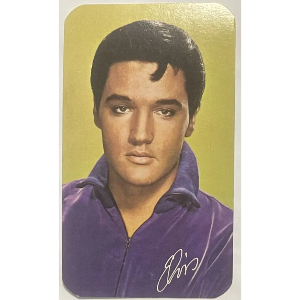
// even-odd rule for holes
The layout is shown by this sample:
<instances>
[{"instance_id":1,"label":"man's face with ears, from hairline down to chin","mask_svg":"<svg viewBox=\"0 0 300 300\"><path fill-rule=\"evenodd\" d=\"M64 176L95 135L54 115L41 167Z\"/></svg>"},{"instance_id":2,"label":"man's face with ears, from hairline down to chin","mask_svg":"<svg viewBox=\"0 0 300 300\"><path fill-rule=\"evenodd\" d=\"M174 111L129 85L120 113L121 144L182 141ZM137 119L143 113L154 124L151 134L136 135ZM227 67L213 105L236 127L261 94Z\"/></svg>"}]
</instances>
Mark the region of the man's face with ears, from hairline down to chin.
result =
<instances>
[{"instance_id":1,"label":"man's face with ears, from hairline down to chin","mask_svg":"<svg viewBox=\"0 0 300 300\"><path fill-rule=\"evenodd\" d=\"M158 64L125 61L110 67L95 123L102 130L110 172L133 185L148 185L176 169L189 122L184 72L168 64L156 81ZM194 120L194 118L192 118Z\"/></svg>"}]
</instances>

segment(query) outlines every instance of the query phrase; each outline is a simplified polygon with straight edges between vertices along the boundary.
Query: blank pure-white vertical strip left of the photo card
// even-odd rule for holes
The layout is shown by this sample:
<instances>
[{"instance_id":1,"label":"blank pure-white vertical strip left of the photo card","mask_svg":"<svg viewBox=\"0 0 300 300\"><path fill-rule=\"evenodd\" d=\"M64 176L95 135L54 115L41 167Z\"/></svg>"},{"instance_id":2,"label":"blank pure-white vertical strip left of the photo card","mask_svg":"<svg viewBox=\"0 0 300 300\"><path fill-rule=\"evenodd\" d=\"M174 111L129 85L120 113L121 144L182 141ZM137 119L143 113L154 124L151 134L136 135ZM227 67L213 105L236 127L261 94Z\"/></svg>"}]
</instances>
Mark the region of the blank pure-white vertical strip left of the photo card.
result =
<instances>
[{"instance_id":1,"label":"blank pure-white vertical strip left of the photo card","mask_svg":"<svg viewBox=\"0 0 300 300\"><path fill-rule=\"evenodd\" d=\"M1 292L58 298L58 3L2 1Z\"/></svg>"}]
</instances>

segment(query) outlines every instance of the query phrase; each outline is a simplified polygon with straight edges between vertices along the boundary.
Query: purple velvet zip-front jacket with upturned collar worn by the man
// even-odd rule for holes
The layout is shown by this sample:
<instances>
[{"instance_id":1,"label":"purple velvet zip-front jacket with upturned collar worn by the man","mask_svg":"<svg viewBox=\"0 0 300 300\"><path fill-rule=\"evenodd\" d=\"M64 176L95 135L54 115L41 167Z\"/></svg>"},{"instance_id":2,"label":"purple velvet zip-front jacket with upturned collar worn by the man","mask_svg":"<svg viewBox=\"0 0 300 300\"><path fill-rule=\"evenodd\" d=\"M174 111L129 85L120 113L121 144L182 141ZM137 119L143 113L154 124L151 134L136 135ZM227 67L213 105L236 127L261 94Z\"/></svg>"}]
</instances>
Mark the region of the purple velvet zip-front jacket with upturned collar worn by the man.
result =
<instances>
[{"instance_id":1,"label":"purple velvet zip-front jacket with upturned collar worn by the man","mask_svg":"<svg viewBox=\"0 0 300 300\"><path fill-rule=\"evenodd\" d=\"M199 190L184 142L179 171L152 216L128 238L103 155L63 185L62 279L82 297L215 298L232 282L233 211Z\"/></svg>"}]
</instances>

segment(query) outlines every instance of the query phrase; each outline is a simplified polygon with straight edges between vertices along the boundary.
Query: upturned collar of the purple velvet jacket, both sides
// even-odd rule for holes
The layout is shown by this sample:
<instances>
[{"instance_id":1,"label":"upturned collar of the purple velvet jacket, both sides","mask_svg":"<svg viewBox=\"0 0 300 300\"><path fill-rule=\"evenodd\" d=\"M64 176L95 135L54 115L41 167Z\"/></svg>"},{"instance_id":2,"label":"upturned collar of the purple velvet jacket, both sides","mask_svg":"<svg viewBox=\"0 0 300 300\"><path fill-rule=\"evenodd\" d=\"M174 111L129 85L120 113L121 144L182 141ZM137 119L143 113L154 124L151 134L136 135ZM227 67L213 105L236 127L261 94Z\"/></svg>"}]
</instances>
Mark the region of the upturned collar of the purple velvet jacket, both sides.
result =
<instances>
[{"instance_id":1,"label":"upturned collar of the purple velvet jacket, both sides","mask_svg":"<svg viewBox=\"0 0 300 300\"><path fill-rule=\"evenodd\" d=\"M92 184L105 189L107 188L108 173L109 165L105 155L102 155L89 176L77 182L76 187L84 187ZM198 190L199 173L196 157L190 146L184 141L176 179L162 198L175 200L188 207L190 205L200 207L199 200L197 199ZM164 206L163 210L166 208L166 205L163 205L163 203L159 204L158 206Z\"/></svg>"}]
</instances>

